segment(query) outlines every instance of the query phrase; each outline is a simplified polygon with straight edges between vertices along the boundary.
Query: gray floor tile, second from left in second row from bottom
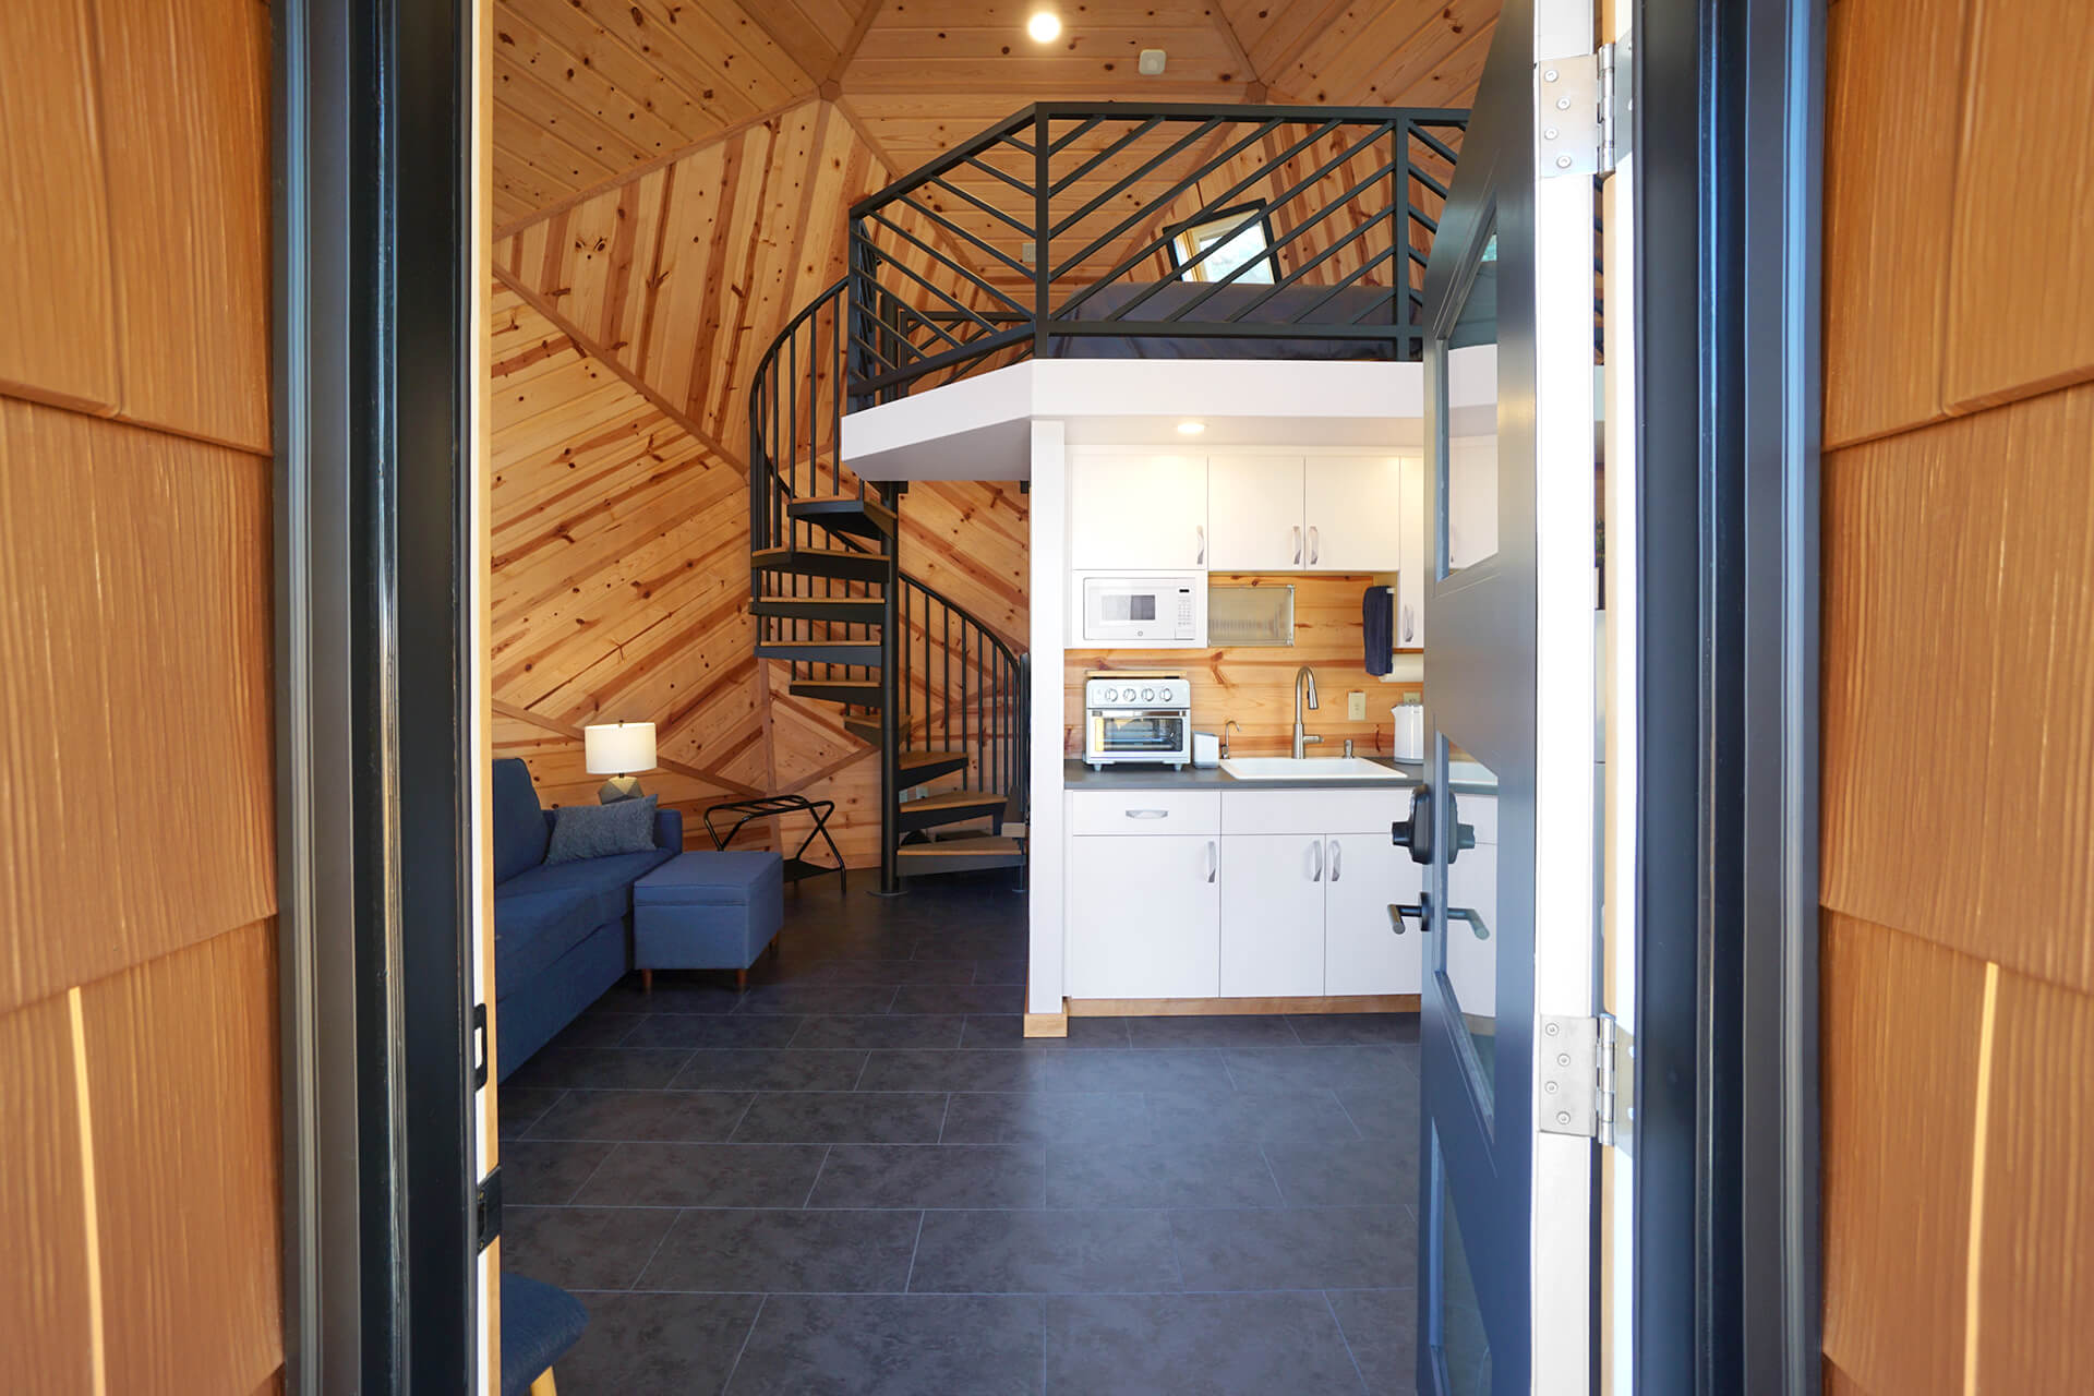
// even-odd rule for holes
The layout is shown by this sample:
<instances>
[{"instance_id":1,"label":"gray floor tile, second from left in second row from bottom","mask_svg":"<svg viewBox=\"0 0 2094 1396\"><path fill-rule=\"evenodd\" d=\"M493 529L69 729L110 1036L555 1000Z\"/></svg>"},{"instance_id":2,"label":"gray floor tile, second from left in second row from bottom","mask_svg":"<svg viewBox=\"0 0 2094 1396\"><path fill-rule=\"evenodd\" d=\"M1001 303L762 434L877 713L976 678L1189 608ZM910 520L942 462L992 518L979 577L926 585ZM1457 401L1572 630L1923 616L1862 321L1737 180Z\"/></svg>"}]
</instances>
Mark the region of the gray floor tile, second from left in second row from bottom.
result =
<instances>
[{"instance_id":1,"label":"gray floor tile, second from left in second row from bottom","mask_svg":"<svg viewBox=\"0 0 2094 1396\"><path fill-rule=\"evenodd\" d=\"M697 1208L676 1218L639 1289L900 1293L917 1212Z\"/></svg>"}]
</instances>

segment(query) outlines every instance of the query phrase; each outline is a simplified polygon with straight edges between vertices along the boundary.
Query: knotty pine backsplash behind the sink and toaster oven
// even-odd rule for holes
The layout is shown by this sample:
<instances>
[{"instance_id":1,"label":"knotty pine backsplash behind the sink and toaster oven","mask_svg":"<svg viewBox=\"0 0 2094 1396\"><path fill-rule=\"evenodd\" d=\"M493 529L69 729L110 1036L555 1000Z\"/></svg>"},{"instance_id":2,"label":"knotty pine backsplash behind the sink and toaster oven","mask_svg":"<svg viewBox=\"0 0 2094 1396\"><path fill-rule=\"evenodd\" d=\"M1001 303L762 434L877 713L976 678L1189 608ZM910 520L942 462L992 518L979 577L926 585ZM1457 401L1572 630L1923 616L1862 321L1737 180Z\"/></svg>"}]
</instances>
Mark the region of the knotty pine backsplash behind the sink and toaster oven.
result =
<instances>
[{"instance_id":1,"label":"knotty pine backsplash behind the sink and toaster oven","mask_svg":"<svg viewBox=\"0 0 2094 1396\"><path fill-rule=\"evenodd\" d=\"M1315 670L1321 707L1302 714L1302 726L1323 737L1311 756L1338 756L1344 739L1361 756L1388 756L1388 710L1420 684L1382 682L1367 674L1359 596L1374 584L1369 576L1223 576L1215 582L1250 586L1294 586L1294 645L1235 649L1070 649L1062 670L1062 749L1083 753L1083 676L1091 670L1183 670L1191 680L1191 720L1202 733L1221 733L1235 718L1242 730L1229 735L1235 756L1288 756L1294 749L1294 674ZM1367 718L1344 716L1344 695L1367 693Z\"/></svg>"}]
</instances>

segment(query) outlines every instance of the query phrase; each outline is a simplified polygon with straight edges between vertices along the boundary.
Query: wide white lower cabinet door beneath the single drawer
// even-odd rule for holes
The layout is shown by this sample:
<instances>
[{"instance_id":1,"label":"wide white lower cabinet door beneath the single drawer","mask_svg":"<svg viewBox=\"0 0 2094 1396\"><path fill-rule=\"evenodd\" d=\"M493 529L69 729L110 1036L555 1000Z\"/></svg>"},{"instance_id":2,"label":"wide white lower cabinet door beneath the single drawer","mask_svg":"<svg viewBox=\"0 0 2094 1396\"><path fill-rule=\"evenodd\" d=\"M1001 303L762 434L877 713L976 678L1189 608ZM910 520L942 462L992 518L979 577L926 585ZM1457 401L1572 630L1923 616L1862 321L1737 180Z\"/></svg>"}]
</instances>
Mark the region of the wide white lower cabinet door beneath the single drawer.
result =
<instances>
[{"instance_id":1,"label":"wide white lower cabinet door beneath the single drawer","mask_svg":"<svg viewBox=\"0 0 2094 1396\"><path fill-rule=\"evenodd\" d=\"M1215 998L1221 839L1072 837L1070 998Z\"/></svg>"}]
</instances>

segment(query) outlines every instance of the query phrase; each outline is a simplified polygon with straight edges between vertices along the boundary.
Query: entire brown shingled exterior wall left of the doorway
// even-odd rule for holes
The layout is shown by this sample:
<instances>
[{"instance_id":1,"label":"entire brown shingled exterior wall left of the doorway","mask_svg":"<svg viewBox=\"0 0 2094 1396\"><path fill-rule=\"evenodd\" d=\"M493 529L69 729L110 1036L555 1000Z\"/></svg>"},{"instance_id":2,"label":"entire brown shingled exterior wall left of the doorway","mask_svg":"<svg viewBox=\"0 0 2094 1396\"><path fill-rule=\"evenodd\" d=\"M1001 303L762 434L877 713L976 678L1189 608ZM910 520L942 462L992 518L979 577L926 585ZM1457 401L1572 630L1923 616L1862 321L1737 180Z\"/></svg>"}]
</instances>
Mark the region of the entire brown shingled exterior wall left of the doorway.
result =
<instances>
[{"instance_id":1,"label":"entire brown shingled exterior wall left of the doorway","mask_svg":"<svg viewBox=\"0 0 2094 1396\"><path fill-rule=\"evenodd\" d=\"M0 1348L283 1369L268 8L0 6Z\"/></svg>"}]
</instances>

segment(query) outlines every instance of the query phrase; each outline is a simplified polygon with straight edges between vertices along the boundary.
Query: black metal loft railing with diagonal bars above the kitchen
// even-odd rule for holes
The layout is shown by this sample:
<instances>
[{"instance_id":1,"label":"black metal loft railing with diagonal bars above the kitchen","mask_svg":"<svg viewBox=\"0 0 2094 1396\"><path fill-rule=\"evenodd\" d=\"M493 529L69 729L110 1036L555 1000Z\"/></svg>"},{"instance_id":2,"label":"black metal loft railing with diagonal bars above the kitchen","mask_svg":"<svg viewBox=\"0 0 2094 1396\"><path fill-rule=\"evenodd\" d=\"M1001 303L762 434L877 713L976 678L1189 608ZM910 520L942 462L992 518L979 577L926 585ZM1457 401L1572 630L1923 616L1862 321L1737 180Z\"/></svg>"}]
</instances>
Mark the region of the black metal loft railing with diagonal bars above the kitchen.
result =
<instances>
[{"instance_id":1,"label":"black metal loft railing with diagonal bars above the kitchen","mask_svg":"<svg viewBox=\"0 0 2094 1396\"><path fill-rule=\"evenodd\" d=\"M886 402L1076 339L1418 358L1466 111L1041 103L850 209L850 383ZM1200 237L1225 230L1227 237ZM1263 234L1263 251L1238 257ZM1231 266L1233 262L1233 266Z\"/></svg>"}]
</instances>

